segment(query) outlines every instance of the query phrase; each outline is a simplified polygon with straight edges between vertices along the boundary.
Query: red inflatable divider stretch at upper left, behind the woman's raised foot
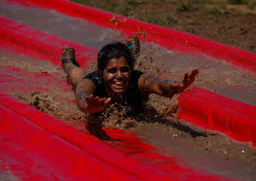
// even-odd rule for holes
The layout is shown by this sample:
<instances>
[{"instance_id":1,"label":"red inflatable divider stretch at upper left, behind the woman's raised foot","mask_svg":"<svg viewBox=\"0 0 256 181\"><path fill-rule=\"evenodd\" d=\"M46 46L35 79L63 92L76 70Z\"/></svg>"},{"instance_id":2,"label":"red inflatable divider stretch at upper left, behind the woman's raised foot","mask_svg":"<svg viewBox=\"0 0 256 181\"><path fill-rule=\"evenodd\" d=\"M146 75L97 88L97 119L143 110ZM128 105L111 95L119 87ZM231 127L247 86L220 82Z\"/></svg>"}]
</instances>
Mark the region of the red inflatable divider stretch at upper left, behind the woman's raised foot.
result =
<instances>
[{"instance_id":1,"label":"red inflatable divider stretch at upper left, behind the woman's raised foot","mask_svg":"<svg viewBox=\"0 0 256 181\"><path fill-rule=\"evenodd\" d=\"M81 66L86 67L95 63L96 50L38 31L3 16L0 16L0 37L3 48L15 49L21 54L28 54L38 59L47 59L54 65L60 65L61 49L65 47L76 48L77 59L83 62Z\"/></svg>"}]
</instances>

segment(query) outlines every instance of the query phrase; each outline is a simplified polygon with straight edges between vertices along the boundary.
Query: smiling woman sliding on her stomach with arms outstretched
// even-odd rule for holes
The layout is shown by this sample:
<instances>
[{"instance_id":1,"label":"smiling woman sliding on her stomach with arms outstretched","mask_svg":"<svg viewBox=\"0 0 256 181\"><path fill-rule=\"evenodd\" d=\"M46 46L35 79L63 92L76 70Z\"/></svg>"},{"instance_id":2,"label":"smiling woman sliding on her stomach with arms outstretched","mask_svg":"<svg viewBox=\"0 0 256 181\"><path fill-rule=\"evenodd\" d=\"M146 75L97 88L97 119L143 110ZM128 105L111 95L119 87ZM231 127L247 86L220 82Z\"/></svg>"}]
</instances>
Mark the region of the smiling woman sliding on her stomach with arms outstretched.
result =
<instances>
[{"instance_id":1,"label":"smiling woman sliding on her stomach with arms outstretched","mask_svg":"<svg viewBox=\"0 0 256 181\"><path fill-rule=\"evenodd\" d=\"M138 40L137 37L130 39ZM108 44L97 56L97 71L86 75L75 59L75 50L64 48L61 64L67 72L68 82L75 90L79 110L97 115L108 105L118 103L137 112L143 107L143 101L148 99L150 93L172 97L175 93L181 93L189 88L199 72L195 68L190 74L185 73L183 82L180 83L161 80L156 76L134 70L138 53L139 44L133 47L122 42Z\"/></svg>"}]
</instances>

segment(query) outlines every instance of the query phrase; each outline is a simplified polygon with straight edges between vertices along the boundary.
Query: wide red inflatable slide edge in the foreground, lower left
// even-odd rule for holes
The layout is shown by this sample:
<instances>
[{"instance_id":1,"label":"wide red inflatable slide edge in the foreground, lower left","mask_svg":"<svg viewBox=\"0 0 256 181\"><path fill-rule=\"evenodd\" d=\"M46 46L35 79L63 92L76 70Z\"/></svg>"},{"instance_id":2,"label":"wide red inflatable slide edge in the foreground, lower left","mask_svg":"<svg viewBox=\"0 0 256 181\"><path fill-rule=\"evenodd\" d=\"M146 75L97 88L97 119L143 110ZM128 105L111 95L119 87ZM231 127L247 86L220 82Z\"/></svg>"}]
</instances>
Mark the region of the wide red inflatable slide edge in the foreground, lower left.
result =
<instances>
[{"instance_id":1,"label":"wide red inflatable slide edge in the foreground, lower left","mask_svg":"<svg viewBox=\"0 0 256 181\"><path fill-rule=\"evenodd\" d=\"M146 149L137 157L151 159L154 164L148 166L131 157L132 146L125 156L8 94L0 92L0 103L0 167L24 180L233 180L184 167L141 143ZM135 137L127 138L140 145Z\"/></svg>"}]
</instances>

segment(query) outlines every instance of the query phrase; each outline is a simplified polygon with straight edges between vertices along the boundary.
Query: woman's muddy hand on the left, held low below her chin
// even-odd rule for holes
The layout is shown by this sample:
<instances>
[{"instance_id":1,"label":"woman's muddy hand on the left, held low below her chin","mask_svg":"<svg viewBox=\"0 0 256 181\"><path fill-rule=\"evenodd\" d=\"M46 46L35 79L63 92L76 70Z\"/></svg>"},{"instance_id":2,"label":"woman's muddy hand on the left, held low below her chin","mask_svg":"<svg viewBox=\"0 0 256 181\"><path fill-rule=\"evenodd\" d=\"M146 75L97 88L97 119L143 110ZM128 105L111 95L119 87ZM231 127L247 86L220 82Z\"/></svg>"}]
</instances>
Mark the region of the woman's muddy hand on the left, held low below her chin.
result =
<instances>
[{"instance_id":1,"label":"woman's muddy hand on the left, held low below her chin","mask_svg":"<svg viewBox=\"0 0 256 181\"><path fill-rule=\"evenodd\" d=\"M102 110L106 109L110 101L111 98L99 98L99 96L94 98L93 95L90 94L90 96L85 97L85 110L90 114L102 112Z\"/></svg>"}]
</instances>

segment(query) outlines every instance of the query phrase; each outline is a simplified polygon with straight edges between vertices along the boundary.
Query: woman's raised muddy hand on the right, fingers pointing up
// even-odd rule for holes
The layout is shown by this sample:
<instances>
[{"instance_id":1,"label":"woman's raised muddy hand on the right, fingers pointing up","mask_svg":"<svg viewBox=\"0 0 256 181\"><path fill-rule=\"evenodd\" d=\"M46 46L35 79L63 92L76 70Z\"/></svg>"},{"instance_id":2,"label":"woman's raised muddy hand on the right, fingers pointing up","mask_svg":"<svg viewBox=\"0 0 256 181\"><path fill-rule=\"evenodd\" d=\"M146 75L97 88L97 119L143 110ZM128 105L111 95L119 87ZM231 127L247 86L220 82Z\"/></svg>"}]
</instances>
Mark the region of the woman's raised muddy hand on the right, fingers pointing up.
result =
<instances>
[{"instance_id":1,"label":"woman's raised muddy hand on the right, fingers pointing up","mask_svg":"<svg viewBox=\"0 0 256 181\"><path fill-rule=\"evenodd\" d=\"M198 68L194 68L192 72L189 74L188 72L185 73L183 82L181 84L174 83L174 87L177 88L177 93L183 92L186 88L189 88L189 86L195 82L195 76L199 73Z\"/></svg>"}]
</instances>

